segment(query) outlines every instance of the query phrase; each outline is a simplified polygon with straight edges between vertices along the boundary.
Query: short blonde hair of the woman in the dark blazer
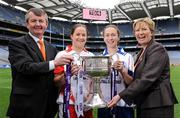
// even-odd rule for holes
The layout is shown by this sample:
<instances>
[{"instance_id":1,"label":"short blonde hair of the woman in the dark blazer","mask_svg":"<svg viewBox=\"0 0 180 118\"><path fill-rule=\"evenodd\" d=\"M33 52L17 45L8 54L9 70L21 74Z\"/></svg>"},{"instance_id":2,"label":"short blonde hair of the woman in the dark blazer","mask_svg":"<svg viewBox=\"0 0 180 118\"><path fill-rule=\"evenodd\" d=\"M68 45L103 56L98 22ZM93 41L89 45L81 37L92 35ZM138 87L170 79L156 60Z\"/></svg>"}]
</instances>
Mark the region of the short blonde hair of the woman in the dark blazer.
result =
<instances>
[{"instance_id":1,"label":"short blonde hair of the woman in the dark blazer","mask_svg":"<svg viewBox=\"0 0 180 118\"><path fill-rule=\"evenodd\" d=\"M139 22L145 22L149 26L149 29L151 30L151 32L154 34L154 32L155 32L155 22L151 18L145 17L145 18L136 19L135 22L133 23L133 29L135 29L136 24L139 23Z\"/></svg>"}]
</instances>

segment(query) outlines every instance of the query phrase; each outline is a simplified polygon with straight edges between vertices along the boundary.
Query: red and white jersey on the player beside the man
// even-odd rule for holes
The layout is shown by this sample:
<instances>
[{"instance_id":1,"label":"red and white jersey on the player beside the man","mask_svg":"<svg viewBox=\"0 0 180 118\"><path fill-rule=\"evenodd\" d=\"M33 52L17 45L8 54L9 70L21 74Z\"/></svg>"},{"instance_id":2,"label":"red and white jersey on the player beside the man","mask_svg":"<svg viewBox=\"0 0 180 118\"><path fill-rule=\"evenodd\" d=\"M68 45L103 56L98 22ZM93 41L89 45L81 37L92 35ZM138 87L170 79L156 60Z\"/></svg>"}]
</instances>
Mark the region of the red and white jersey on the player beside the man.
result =
<instances>
[{"instance_id":1,"label":"red and white jersey on the player beside the man","mask_svg":"<svg viewBox=\"0 0 180 118\"><path fill-rule=\"evenodd\" d=\"M70 55L74 55L74 53L76 53L74 50L72 50L72 46L67 46L66 47L66 50L63 50L63 51L60 51L58 52L58 54L56 55L55 59L58 58L58 57L61 57L62 55L64 54L70 54ZM81 51L79 53L79 56L94 56L93 53L87 51L86 49L84 49L83 51ZM76 61L76 60L74 60ZM74 63L77 63L77 62L74 62ZM55 68L54 72L55 73L58 73L58 72L61 72L61 71L64 71L65 69L65 66L64 67L57 67ZM88 79L88 78L84 78L83 79L83 83L84 83L84 90L83 90L83 93L84 93L84 96L86 96L89 91L90 91L90 86L87 86L87 85L90 85L91 84L91 80ZM76 90L77 90L77 79L75 76L72 76L71 77L71 95L70 95L70 101L69 101L69 104L74 104L75 103L75 95L76 95ZM60 92L60 95L57 99L57 103L61 104L63 103L63 91Z\"/></svg>"}]
</instances>

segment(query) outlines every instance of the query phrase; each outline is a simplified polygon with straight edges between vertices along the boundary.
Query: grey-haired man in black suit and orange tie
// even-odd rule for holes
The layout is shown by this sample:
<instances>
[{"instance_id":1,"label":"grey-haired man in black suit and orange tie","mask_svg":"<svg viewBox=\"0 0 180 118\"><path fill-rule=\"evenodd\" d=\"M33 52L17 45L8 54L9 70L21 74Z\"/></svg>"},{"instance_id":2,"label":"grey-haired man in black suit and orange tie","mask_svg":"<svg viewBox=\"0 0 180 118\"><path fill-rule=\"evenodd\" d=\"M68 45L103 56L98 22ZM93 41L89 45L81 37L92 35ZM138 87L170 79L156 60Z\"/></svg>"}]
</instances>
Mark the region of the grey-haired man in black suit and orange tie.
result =
<instances>
[{"instance_id":1,"label":"grey-haired man in black suit and orange tie","mask_svg":"<svg viewBox=\"0 0 180 118\"><path fill-rule=\"evenodd\" d=\"M48 26L44 10L31 8L25 21L29 33L9 42L12 90L7 116L54 118L58 109L58 88L54 85L53 69L69 64L73 58L63 55L54 60L57 50L43 37ZM44 42L44 54L40 50L40 40Z\"/></svg>"}]
</instances>

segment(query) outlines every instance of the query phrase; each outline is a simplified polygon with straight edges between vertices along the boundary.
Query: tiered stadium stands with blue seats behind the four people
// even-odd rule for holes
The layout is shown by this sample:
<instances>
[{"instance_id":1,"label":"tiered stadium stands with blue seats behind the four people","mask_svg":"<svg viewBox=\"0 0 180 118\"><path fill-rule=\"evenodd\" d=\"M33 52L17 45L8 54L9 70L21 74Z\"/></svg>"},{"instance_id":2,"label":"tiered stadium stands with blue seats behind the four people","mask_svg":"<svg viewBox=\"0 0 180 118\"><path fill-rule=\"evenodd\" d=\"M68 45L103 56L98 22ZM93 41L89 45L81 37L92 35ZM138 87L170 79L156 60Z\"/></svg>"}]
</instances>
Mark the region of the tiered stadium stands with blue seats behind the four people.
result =
<instances>
[{"instance_id":1,"label":"tiered stadium stands with blue seats behind the four people","mask_svg":"<svg viewBox=\"0 0 180 118\"><path fill-rule=\"evenodd\" d=\"M8 64L8 60L5 60L8 55L8 41L27 33L24 14L25 12L19 11L12 6L0 4L0 45L3 47L0 48L0 63ZM155 20L155 22L156 40L168 50L171 64L180 64L180 19ZM45 39L59 50L64 49L66 45L71 43L69 35L74 24L74 22L50 19ZM95 54L99 54L105 47L101 32L106 24L86 23L86 25L90 35L86 47ZM136 47L137 41L133 36L132 23L116 23L115 25L121 30L120 46L136 57L136 51L139 49Z\"/></svg>"}]
</instances>

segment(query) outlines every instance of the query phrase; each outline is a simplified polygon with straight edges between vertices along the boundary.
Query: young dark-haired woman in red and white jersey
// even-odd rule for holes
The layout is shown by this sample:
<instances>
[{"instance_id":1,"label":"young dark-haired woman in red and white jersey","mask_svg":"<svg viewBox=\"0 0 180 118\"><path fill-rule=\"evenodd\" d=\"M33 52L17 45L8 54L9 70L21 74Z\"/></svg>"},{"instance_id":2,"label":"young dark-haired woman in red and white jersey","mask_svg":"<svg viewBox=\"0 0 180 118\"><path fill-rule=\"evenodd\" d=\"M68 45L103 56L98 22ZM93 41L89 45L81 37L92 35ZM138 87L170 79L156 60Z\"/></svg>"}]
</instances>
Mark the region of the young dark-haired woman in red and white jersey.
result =
<instances>
[{"instance_id":1,"label":"young dark-haired woman in red and white jersey","mask_svg":"<svg viewBox=\"0 0 180 118\"><path fill-rule=\"evenodd\" d=\"M74 56L74 58L76 58L77 55L79 56L94 56L93 53L87 51L85 49L85 44L87 41L87 37L88 37L88 32L87 32L87 27L85 25L82 24L75 24L71 30L71 35L70 38L72 40L72 45L68 45L66 47L66 50L60 51L57 55L56 58L64 55L64 54L70 54L72 56ZM76 62L78 61L77 59L74 59L75 62L73 62L74 64L71 65L71 90L70 90L70 99L69 99L69 112L70 112L70 118L77 118L78 117L78 113L75 109L75 103L77 102L77 97L76 93L77 93L77 72L80 69L81 63ZM64 67L56 67L54 73L55 73L55 78L54 80L56 81L56 83L60 83L61 85L61 91L60 91L60 95L59 98L57 99L57 103L59 104L59 117L63 118L63 96L64 96L64 89L62 86L63 85L63 81L64 81ZM84 84L86 81L84 81ZM83 95L84 95L84 99L88 98L88 91L90 91L90 88L84 86L83 88ZM80 118L92 118L92 110L87 110L84 111L84 116L80 116Z\"/></svg>"}]
</instances>

